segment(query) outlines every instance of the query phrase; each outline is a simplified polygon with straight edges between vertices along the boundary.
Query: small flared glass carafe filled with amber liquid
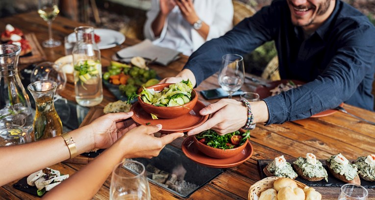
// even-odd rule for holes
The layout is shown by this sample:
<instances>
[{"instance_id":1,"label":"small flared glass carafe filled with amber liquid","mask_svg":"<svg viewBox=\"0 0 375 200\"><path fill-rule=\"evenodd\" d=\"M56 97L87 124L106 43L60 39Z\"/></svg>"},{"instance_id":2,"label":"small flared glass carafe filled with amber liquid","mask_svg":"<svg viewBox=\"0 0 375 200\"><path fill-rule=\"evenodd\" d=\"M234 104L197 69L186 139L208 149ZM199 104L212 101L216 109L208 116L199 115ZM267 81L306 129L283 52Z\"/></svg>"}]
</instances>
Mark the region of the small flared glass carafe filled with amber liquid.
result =
<instances>
[{"instance_id":1,"label":"small flared glass carafe filled with amber liquid","mask_svg":"<svg viewBox=\"0 0 375 200\"><path fill-rule=\"evenodd\" d=\"M50 80L35 81L27 86L36 104L33 123L35 141L63 133L60 117L53 105L56 88L57 83Z\"/></svg>"}]
</instances>

